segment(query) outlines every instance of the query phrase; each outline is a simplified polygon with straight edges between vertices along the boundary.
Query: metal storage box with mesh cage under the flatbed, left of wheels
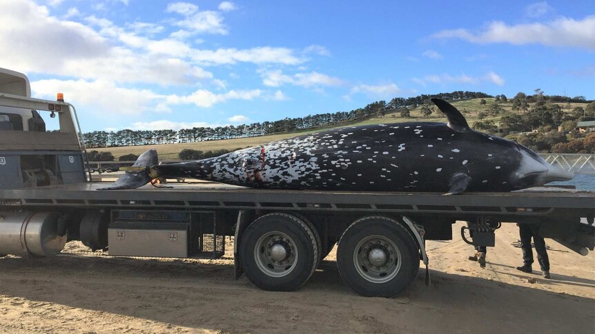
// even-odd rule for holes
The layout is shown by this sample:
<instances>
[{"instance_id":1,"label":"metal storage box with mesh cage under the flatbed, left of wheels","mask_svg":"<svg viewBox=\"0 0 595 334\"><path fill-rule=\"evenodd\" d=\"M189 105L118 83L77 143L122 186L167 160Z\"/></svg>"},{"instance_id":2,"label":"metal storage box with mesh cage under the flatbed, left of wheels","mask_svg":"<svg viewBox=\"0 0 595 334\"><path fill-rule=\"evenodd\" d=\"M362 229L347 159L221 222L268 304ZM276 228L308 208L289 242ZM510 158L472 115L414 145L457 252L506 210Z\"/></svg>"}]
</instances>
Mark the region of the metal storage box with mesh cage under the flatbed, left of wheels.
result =
<instances>
[{"instance_id":1,"label":"metal storage box with mesh cage under the flatbed, left of wheels","mask_svg":"<svg viewBox=\"0 0 595 334\"><path fill-rule=\"evenodd\" d=\"M225 238L213 211L114 210L110 255L220 258ZM219 229L222 231L222 229Z\"/></svg>"}]
</instances>

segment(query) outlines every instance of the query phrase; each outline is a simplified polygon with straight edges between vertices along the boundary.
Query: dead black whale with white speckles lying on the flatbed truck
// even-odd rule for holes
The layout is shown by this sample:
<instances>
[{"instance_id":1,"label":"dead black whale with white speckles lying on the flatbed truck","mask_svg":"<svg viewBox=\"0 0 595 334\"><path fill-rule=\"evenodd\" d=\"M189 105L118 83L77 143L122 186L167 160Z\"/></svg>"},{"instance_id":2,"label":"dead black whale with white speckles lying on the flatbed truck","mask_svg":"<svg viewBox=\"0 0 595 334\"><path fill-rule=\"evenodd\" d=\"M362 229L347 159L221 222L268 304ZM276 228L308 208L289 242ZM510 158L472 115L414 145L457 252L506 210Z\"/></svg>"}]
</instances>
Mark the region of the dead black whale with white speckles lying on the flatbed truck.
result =
<instances>
[{"instance_id":1,"label":"dead black whale with white speckles lying on the flatbed truck","mask_svg":"<svg viewBox=\"0 0 595 334\"><path fill-rule=\"evenodd\" d=\"M471 129L447 101L431 101L448 123L347 126L183 163L159 164L150 149L101 189L142 187L155 178L196 178L263 189L460 194L573 178L523 145Z\"/></svg>"}]
</instances>

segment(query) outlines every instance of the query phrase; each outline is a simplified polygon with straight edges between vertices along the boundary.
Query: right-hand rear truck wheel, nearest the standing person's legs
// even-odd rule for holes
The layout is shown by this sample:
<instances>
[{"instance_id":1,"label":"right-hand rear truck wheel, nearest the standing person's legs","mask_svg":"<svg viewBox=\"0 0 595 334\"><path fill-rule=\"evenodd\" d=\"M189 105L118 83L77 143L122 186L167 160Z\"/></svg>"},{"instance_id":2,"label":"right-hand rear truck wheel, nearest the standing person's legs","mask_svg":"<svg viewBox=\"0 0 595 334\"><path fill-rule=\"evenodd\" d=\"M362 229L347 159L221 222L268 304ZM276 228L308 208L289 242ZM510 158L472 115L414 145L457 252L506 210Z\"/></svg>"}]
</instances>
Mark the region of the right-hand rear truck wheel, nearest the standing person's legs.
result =
<instances>
[{"instance_id":1,"label":"right-hand rear truck wheel, nearest the standing person's legs","mask_svg":"<svg viewBox=\"0 0 595 334\"><path fill-rule=\"evenodd\" d=\"M337 265L343 281L366 297L394 297L415 280L419 251L397 220L369 216L355 220L339 240Z\"/></svg>"}]
</instances>

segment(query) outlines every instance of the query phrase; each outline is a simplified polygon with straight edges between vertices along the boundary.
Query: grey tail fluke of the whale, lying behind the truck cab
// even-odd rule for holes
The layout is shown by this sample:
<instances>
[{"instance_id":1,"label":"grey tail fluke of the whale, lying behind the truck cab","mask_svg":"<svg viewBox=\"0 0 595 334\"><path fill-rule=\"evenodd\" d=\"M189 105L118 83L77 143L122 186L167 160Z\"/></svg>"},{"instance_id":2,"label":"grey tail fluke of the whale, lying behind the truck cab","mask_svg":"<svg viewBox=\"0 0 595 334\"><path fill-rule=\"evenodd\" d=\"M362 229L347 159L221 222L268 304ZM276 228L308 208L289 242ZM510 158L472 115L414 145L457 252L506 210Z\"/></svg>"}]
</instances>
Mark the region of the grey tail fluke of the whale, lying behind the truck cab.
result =
<instances>
[{"instance_id":1,"label":"grey tail fluke of the whale, lying behind the truck cab","mask_svg":"<svg viewBox=\"0 0 595 334\"><path fill-rule=\"evenodd\" d=\"M134 165L130 167L120 167L119 170L125 171L124 175L120 176L109 187L99 188L99 190L116 190L116 189L134 189L146 185L153 178L157 178L157 172L152 169L152 166L159 163L157 151L149 149L137 158Z\"/></svg>"}]
</instances>

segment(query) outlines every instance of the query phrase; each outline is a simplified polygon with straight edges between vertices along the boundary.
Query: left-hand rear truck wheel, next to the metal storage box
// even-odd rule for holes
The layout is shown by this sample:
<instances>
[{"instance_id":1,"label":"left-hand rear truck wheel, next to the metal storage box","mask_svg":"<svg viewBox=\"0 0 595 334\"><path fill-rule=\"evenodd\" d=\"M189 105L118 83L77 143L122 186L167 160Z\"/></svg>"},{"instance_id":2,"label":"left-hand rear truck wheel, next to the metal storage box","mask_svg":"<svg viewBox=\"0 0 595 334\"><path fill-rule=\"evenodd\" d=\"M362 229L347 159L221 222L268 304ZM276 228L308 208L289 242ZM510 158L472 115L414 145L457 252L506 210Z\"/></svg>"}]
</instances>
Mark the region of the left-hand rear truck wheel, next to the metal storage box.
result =
<instances>
[{"instance_id":1,"label":"left-hand rear truck wheel, next to the metal storage box","mask_svg":"<svg viewBox=\"0 0 595 334\"><path fill-rule=\"evenodd\" d=\"M269 291L294 291L318 264L318 244L311 228L287 213L254 220L240 242L240 259L248 280Z\"/></svg>"}]
</instances>

